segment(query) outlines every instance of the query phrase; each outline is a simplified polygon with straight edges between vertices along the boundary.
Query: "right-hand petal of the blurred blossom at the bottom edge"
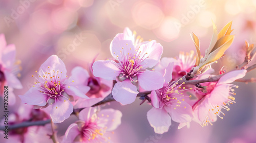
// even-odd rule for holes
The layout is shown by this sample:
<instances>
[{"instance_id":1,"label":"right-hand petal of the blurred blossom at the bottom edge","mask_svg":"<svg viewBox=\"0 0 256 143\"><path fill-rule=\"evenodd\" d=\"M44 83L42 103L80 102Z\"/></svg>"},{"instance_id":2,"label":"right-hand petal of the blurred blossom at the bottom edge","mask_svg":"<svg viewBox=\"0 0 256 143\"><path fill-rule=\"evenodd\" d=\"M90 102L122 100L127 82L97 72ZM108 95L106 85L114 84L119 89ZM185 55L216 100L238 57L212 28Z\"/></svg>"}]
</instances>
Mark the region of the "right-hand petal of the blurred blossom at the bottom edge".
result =
<instances>
[{"instance_id":1,"label":"right-hand petal of the blurred blossom at the bottom edge","mask_svg":"<svg viewBox=\"0 0 256 143\"><path fill-rule=\"evenodd\" d=\"M99 111L98 126L106 128L106 131L113 131L121 124L122 113L119 110L103 109ZM103 115L103 116L102 116Z\"/></svg>"}]
</instances>

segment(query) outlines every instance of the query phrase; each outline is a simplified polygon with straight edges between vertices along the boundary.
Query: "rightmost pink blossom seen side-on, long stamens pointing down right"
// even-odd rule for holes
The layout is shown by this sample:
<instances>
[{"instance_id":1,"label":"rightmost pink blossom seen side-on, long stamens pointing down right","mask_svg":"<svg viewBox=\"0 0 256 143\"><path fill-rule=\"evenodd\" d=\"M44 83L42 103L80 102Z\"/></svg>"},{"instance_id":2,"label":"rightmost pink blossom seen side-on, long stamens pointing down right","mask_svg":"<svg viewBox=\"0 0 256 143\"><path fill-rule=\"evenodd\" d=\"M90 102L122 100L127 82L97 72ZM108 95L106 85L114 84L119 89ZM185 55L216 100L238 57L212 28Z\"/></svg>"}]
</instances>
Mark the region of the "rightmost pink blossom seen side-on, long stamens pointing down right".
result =
<instances>
[{"instance_id":1,"label":"rightmost pink blossom seen side-on, long stamens pointing down right","mask_svg":"<svg viewBox=\"0 0 256 143\"><path fill-rule=\"evenodd\" d=\"M230 110L227 105L233 104L235 95L232 87L238 86L229 84L237 79L243 78L246 70L234 70L223 75L218 82L201 83L207 86L207 92L203 93L198 90L196 94L198 101L193 105L194 118L193 120L199 123L202 127L217 120L217 116L223 118L220 114L225 115L221 110Z\"/></svg>"}]
</instances>

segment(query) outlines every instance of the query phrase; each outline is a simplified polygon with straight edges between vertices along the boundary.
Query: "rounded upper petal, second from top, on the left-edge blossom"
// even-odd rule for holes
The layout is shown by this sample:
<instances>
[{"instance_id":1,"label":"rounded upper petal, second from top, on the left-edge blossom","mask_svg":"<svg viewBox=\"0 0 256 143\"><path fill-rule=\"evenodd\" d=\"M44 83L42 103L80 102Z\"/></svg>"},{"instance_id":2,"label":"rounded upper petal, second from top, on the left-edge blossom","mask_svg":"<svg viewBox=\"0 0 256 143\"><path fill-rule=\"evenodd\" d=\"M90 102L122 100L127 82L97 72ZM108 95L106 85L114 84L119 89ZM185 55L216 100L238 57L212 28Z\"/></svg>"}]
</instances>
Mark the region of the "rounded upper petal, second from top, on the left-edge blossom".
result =
<instances>
[{"instance_id":1,"label":"rounded upper petal, second from top, on the left-edge blossom","mask_svg":"<svg viewBox=\"0 0 256 143\"><path fill-rule=\"evenodd\" d=\"M3 50L2 61L5 65L5 68L11 69L15 61L16 49L14 44L9 44Z\"/></svg>"}]
</instances>

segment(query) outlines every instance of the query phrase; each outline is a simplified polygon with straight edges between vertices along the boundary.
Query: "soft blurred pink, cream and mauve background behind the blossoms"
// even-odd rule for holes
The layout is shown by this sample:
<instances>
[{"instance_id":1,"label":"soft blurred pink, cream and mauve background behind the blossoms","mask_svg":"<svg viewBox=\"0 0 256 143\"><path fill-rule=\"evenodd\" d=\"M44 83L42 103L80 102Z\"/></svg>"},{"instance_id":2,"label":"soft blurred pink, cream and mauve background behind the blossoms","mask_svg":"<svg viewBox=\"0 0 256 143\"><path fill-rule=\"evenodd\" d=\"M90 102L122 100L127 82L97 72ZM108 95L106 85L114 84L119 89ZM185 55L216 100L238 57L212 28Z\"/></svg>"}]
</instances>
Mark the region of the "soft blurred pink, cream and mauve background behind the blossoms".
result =
<instances>
[{"instance_id":1,"label":"soft blurred pink, cream and mauve background behind the blossoms","mask_svg":"<svg viewBox=\"0 0 256 143\"><path fill-rule=\"evenodd\" d=\"M34 83L31 75L50 55L58 55L66 64L68 75L73 67L86 67L97 59L111 57L109 45L125 27L136 31L144 40L154 39L164 47L162 57L176 57L180 51L195 50L189 33L200 39L201 54L208 48L212 21L220 31L233 21L235 39L226 56L214 64L218 71L225 65L230 70L244 60L245 40L256 44L256 0L10 0L0 1L0 33L8 44L16 45L16 58L22 61L20 80L24 94ZM78 40L79 44L74 43ZM252 61L255 63L255 60ZM251 71L247 77L255 76ZM256 142L256 88L255 83L234 83L236 104L218 118L214 126L201 127L192 123L189 129L177 129L172 122L169 131L155 134L148 124L146 112L150 105L139 106L140 100L121 106L112 102L103 108L119 109L122 124L115 130L114 142ZM17 103L20 100L17 99ZM15 111L18 104L10 110ZM72 117L57 130L63 135Z\"/></svg>"}]
</instances>

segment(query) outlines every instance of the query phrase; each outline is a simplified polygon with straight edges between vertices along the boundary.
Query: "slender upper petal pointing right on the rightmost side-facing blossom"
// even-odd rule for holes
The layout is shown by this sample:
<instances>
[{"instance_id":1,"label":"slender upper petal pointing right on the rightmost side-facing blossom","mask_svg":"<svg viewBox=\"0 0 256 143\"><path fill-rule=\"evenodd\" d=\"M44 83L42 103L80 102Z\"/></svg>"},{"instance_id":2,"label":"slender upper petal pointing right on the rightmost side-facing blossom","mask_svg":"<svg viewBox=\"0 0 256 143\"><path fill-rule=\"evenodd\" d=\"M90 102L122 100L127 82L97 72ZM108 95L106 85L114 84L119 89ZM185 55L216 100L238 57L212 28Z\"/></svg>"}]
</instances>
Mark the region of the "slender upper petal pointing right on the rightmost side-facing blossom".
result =
<instances>
[{"instance_id":1,"label":"slender upper petal pointing right on the rightmost side-facing blossom","mask_svg":"<svg viewBox=\"0 0 256 143\"><path fill-rule=\"evenodd\" d=\"M218 84L231 83L237 79L241 79L245 76L246 72L247 72L246 69L230 71L220 78L220 80L218 81Z\"/></svg>"}]
</instances>

